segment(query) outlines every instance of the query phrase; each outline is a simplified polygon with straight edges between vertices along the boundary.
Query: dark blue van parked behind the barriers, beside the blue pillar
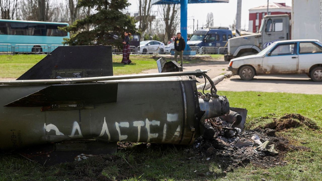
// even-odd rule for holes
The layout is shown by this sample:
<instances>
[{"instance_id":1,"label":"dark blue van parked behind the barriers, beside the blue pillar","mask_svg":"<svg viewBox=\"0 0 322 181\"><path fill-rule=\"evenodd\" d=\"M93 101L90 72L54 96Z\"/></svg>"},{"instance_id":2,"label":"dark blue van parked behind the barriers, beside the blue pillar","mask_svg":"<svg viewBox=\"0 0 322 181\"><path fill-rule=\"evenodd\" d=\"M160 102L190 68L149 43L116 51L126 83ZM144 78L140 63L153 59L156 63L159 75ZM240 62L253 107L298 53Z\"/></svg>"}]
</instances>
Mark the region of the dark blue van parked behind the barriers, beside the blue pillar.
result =
<instances>
[{"instance_id":1,"label":"dark blue van parked behind the barriers, beside the blue pillar","mask_svg":"<svg viewBox=\"0 0 322 181\"><path fill-rule=\"evenodd\" d=\"M213 27L197 30L187 44L199 47L224 47L230 38L232 38L232 31L227 27Z\"/></svg>"}]
</instances>

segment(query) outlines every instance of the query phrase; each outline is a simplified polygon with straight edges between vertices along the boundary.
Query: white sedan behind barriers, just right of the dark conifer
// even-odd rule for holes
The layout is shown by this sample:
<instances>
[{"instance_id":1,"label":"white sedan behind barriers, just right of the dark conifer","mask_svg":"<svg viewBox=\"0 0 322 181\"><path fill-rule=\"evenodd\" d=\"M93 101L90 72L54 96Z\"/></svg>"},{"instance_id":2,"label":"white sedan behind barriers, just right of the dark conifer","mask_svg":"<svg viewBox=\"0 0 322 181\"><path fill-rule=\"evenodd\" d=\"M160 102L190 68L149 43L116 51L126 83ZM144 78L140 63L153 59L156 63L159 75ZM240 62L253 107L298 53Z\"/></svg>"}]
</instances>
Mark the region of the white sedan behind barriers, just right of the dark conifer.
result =
<instances>
[{"instance_id":1,"label":"white sedan behind barriers, just right of the dark conifer","mask_svg":"<svg viewBox=\"0 0 322 181\"><path fill-rule=\"evenodd\" d=\"M139 52L142 54L146 53L164 53L165 52L164 43L155 41L155 40L147 40L140 42Z\"/></svg>"}]
</instances>

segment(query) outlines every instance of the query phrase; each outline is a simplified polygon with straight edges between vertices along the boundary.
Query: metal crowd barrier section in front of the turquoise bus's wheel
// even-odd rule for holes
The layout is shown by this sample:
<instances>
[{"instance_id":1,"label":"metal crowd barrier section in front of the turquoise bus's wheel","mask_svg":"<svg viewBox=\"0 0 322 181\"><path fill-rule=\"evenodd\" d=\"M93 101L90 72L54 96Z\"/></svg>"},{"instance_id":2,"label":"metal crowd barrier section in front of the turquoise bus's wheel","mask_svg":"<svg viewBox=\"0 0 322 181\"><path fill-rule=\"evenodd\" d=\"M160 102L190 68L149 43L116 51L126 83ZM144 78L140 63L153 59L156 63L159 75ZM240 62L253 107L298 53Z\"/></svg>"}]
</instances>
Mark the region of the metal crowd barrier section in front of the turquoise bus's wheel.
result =
<instances>
[{"instance_id":1,"label":"metal crowd barrier section in front of the turquoise bus's wheel","mask_svg":"<svg viewBox=\"0 0 322 181\"><path fill-rule=\"evenodd\" d=\"M46 44L16 44L14 45L14 53L49 53L50 48Z\"/></svg>"}]
</instances>

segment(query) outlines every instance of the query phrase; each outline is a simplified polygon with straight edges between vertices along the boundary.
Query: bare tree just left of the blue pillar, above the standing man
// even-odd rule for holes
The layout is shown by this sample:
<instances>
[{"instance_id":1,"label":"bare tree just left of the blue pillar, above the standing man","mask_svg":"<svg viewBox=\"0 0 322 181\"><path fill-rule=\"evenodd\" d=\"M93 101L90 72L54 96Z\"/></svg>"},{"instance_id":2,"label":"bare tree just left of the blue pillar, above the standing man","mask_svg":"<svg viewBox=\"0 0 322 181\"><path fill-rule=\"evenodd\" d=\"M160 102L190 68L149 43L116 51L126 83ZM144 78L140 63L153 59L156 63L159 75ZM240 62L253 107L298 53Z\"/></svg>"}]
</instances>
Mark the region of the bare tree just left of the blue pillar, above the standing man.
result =
<instances>
[{"instance_id":1,"label":"bare tree just left of the blue pillar, above the standing man","mask_svg":"<svg viewBox=\"0 0 322 181\"><path fill-rule=\"evenodd\" d=\"M164 43L168 43L171 37L175 34L175 30L179 24L178 19L178 5L176 4L169 4L169 5L161 5L160 12L162 15L163 20L163 27L164 27Z\"/></svg>"}]
</instances>

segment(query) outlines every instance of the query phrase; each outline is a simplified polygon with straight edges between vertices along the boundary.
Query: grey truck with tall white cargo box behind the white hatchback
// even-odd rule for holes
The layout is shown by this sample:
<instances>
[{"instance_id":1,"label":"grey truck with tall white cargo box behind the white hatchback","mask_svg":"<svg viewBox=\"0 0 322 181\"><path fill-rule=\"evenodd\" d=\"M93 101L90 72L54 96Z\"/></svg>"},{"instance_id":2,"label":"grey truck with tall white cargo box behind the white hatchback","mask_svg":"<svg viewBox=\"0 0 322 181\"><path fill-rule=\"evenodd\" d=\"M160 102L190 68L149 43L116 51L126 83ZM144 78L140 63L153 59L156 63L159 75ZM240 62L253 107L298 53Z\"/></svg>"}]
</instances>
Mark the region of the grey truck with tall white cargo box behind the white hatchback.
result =
<instances>
[{"instance_id":1,"label":"grey truck with tall white cargo box behind the white hatchback","mask_svg":"<svg viewBox=\"0 0 322 181\"><path fill-rule=\"evenodd\" d=\"M225 61L256 54L271 43L280 40L317 39L322 41L320 16L316 14L320 14L316 0L293 1L291 21L288 14L266 15L262 19L258 33L228 40L228 53L224 56Z\"/></svg>"}]
</instances>

